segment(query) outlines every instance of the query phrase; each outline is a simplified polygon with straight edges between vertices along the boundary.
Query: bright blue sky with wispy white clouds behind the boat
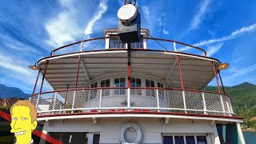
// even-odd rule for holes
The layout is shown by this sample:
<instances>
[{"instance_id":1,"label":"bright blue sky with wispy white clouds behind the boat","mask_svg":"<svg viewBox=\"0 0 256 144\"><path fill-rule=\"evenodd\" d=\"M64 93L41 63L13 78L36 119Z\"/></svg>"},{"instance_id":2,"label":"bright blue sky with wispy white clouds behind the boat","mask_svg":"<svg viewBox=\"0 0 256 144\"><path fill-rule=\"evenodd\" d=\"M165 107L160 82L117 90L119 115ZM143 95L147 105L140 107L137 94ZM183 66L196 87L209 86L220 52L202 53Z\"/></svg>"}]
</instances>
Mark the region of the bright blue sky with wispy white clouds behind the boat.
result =
<instances>
[{"instance_id":1,"label":"bright blue sky with wispy white clouds behind the boat","mask_svg":"<svg viewBox=\"0 0 256 144\"><path fill-rule=\"evenodd\" d=\"M256 1L138 1L142 27L154 38L202 47L230 63L223 70L226 86L256 84ZM37 75L27 68L58 46L101 37L118 26L121 0L1 1L0 83L31 93ZM159 48L161 49L161 48ZM186 47L179 47L186 50ZM215 85L210 82L210 85Z\"/></svg>"}]
</instances>

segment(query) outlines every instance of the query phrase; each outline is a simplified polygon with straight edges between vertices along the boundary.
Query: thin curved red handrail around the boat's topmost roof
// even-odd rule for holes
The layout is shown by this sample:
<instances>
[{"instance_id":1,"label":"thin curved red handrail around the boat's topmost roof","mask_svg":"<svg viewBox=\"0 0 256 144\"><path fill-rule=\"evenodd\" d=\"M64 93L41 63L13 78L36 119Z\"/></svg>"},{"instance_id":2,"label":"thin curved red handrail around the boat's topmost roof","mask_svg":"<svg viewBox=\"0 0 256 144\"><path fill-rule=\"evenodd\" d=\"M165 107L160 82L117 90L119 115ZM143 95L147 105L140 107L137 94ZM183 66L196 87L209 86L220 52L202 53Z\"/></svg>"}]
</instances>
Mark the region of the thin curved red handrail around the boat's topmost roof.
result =
<instances>
[{"instance_id":1,"label":"thin curved red handrail around the boat's topmost roof","mask_svg":"<svg viewBox=\"0 0 256 144\"><path fill-rule=\"evenodd\" d=\"M99 39L106 39L106 38L118 38L118 36L109 36L109 37L99 37L99 38L90 38L90 39L84 39L82 41L78 41L78 42L74 42L74 43L70 43L68 45L65 45L65 46L61 46L61 47L58 47L57 49L55 50L52 50L50 52L50 56L54 56L54 52L58 51L58 50L62 50L66 47L69 47L69 46L74 46L74 45L77 45L81 42L90 42L90 41L94 41L94 40L99 40ZM198 47L198 46L192 46L192 45L189 45L189 44L186 44L184 42L178 42L178 41L174 41L174 40L171 40L171 39L163 39L163 38L142 38L142 39L150 39L150 40L155 40L155 41L164 41L164 42L176 42L178 44L181 44L181 45L184 45L184 46L190 46L194 49L197 49L197 50L201 50L204 54L204 56L206 56L206 50L203 50L202 48ZM170 50L168 50L170 51Z\"/></svg>"}]
</instances>

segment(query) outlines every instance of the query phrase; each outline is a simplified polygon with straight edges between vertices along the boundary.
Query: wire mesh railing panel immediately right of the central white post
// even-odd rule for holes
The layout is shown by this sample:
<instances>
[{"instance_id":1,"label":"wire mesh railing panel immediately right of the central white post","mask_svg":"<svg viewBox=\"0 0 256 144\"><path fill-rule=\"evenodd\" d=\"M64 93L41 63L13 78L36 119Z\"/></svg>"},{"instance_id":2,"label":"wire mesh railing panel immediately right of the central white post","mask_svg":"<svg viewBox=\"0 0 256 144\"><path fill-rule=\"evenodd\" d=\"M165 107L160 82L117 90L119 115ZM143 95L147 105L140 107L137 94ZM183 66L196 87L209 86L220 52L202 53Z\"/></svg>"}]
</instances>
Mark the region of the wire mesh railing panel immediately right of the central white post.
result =
<instances>
[{"instance_id":1,"label":"wire mesh railing panel immediately right of the central white post","mask_svg":"<svg viewBox=\"0 0 256 144\"><path fill-rule=\"evenodd\" d=\"M130 89L130 107L158 107L156 93L154 89Z\"/></svg>"}]
</instances>

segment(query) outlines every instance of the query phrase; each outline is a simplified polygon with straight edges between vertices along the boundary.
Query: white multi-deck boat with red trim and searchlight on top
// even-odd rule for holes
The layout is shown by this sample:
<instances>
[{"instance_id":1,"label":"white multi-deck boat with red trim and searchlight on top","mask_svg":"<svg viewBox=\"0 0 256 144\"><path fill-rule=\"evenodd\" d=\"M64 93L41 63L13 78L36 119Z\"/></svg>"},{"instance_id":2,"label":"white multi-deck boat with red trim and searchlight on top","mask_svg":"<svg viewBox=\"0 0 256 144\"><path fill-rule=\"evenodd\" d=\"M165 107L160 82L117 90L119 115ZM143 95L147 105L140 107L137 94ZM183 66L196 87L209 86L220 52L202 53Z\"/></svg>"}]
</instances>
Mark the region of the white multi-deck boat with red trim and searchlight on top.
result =
<instances>
[{"instance_id":1,"label":"white multi-deck boat with red trim and searchlight on top","mask_svg":"<svg viewBox=\"0 0 256 144\"><path fill-rule=\"evenodd\" d=\"M63 143L245 143L243 118L219 85L228 64L199 47L150 37L135 3L125 2L118 28L102 38L59 47L30 66L42 74L30 96L42 132ZM218 92L204 91L213 79ZM42 91L45 81L54 91Z\"/></svg>"}]
</instances>

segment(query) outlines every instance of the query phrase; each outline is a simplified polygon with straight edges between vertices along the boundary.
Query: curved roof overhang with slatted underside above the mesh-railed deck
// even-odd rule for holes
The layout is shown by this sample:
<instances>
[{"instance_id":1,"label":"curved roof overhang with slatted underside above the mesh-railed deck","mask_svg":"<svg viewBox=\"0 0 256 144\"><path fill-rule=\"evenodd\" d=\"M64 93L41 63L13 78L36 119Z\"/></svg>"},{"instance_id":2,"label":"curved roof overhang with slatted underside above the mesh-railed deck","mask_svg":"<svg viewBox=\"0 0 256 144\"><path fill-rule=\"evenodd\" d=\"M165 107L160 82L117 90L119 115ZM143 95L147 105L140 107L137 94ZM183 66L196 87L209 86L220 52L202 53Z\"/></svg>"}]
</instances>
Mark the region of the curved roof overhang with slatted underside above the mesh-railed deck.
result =
<instances>
[{"instance_id":1,"label":"curved roof overhang with slatted underside above the mesh-railed deck","mask_svg":"<svg viewBox=\"0 0 256 144\"><path fill-rule=\"evenodd\" d=\"M181 87L178 67L180 58L183 85L187 89L202 90L213 78L213 64L221 62L216 58L186 54L165 50L132 49L130 57L131 74L151 75L162 79L174 88ZM78 57L81 58L78 67ZM82 51L70 54L59 54L38 61L41 73L47 63L46 81L55 89L63 90L66 86L75 88L77 72L78 88L94 78L104 74L127 74L128 51L126 49L109 49Z\"/></svg>"}]
</instances>

